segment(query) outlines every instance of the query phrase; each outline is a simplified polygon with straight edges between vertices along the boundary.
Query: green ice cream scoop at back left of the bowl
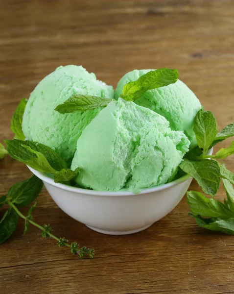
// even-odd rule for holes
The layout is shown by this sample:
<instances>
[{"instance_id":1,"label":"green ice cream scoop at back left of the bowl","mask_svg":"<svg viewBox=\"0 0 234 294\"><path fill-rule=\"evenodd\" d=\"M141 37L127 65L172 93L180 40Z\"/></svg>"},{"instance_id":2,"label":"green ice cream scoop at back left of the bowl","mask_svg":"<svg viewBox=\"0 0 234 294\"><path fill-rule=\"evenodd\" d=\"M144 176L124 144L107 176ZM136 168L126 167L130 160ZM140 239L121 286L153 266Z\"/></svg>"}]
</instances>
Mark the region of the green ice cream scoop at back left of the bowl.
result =
<instances>
[{"instance_id":1,"label":"green ice cream scoop at back left of the bowl","mask_svg":"<svg viewBox=\"0 0 234 294\"><path fill-rule=\"evenodd\" d=\"M65 160L75 153L77 139L101 108L60 114L54 108L72 94L113 98L111 86L96 79L82 66L57 68L47 75L31 93L23 115L23 133L27 140L54 148Z\"/></svg>"}]
</instances>

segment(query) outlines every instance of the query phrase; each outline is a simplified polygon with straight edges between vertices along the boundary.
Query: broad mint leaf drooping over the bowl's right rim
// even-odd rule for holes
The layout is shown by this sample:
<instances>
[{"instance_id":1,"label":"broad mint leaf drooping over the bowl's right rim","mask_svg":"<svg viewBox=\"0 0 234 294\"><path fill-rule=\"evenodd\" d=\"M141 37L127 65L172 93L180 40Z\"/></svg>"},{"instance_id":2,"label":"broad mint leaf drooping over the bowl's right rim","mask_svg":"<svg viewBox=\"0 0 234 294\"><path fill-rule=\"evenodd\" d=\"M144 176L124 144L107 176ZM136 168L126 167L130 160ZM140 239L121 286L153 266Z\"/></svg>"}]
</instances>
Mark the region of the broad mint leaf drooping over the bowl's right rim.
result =
<instances>
[{"instance_id":1,"label":"broad mint leaf drooping over the bowl's right rim","mask_svg":"<svg viewBox=\"0 0 234 294\"><path fill-rule=\"evenodd\" d=\"M214 196L217 193L220 185L220 168L216 160L193 161L184 159L180 168L192 176L206 194Z\"/></svg>"}]
</instances>

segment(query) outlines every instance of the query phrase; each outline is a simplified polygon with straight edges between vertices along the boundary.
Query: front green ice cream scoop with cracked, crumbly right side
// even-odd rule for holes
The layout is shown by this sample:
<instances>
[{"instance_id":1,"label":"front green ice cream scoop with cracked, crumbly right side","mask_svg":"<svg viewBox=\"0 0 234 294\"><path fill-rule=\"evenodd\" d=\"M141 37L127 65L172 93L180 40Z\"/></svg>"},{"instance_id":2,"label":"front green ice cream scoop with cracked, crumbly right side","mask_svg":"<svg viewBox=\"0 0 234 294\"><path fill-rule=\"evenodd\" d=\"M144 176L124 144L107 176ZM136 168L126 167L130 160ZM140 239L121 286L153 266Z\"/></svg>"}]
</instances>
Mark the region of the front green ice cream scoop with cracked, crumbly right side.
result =
<instances>
[{"instance_id":1,"label":"front green ice cream scoop with cracked, crumbly right side","mask_svg":"<svg viewBox=\"0 0 234 294\"><path fill-rule=\"evenodd\" d=\"M119 98L83 130L71 169L81 169L76 182L84 188L136 191L170 181L188 147L164 117Z\"/></svg>"}]
</instances>

